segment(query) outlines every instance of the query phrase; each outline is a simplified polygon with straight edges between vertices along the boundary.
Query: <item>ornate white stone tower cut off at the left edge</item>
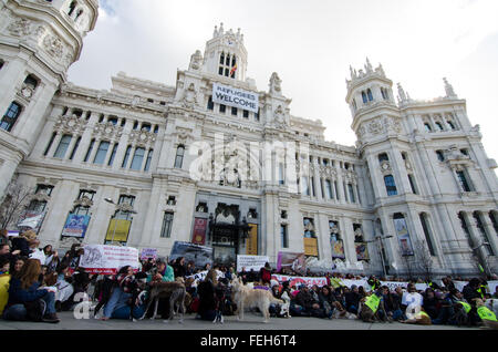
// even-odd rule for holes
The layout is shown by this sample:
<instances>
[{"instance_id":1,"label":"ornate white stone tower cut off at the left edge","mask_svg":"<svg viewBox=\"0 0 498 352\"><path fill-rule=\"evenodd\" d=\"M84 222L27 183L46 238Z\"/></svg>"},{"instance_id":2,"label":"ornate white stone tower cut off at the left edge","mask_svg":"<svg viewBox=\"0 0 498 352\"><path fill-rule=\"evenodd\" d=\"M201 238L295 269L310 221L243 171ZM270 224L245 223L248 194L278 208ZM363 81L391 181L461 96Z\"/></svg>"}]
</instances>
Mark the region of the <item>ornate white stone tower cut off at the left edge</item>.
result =
<instances>
[{"instance_id":1,"label":"ornate white stone tower cut off at the left edge","mask_svg":"<svg viewBox=\"0 0 498 352\"><path fill-rule=\"evenodd\" d=\"M97 0L0 2L0 197L97 15Z\"/></svg>"}]
</instances>

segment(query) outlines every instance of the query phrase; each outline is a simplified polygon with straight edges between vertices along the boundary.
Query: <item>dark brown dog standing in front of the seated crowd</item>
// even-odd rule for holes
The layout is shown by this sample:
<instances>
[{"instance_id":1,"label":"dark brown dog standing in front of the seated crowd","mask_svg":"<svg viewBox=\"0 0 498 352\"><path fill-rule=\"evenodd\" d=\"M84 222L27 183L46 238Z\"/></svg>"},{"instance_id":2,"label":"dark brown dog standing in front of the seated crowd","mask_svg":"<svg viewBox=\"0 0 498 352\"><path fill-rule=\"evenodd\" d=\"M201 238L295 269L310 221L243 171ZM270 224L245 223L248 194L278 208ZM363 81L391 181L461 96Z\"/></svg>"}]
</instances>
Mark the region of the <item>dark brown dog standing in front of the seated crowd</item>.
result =
<instances>
[{"instance_id":1,"label":"dark brown dog standing in front of the seated crowd","mask_svg":"<svg viewBox=\"0 0 498 352\"><path fill-rule=\"evenodd\" d=\"M187 290L185 288L185 284L183 284L181 282L154 282L152 284L147 308L145 309L144 315L139 320L143 320L145 318L148 308L153 302L155 302L155 308L154 314L151 320L156 319L159 298L169 298L169 318L165 322L172 321L174 317L174 310L176 308L176 314L178 314L178 310L181 311L181 317L179 319L179 323L181 324L184 322L186 293ZM178 304L178 307L176 307L176 304Z\"/></svg>"}]
</instances>

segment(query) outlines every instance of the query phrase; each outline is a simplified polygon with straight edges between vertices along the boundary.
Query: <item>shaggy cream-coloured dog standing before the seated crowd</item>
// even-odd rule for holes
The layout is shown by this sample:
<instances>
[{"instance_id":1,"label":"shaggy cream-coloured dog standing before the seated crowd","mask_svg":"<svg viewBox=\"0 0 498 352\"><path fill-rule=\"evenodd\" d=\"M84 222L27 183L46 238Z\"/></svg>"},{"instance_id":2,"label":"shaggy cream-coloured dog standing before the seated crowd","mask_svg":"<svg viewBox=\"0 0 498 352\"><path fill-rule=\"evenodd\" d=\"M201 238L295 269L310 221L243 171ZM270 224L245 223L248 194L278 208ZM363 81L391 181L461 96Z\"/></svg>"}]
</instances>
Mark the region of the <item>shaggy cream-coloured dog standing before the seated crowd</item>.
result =
<instances>
[{"instance_id":1,"label":"shaggy cream-coloured dog standing before the seated crowd","mask_svg":"<svg viewBox=\"0 0 498 352\"><path fill-rule=\"evenodd\" d=\"M270 321L270 303L286 304L284 301L276 299L270 291L255 290L242 283L240 278L231 281L234 301L237 304L237 319L243 320L243 310L246 308L258 308L263 314L263 322Z\"/></svg>"}]
</instances>

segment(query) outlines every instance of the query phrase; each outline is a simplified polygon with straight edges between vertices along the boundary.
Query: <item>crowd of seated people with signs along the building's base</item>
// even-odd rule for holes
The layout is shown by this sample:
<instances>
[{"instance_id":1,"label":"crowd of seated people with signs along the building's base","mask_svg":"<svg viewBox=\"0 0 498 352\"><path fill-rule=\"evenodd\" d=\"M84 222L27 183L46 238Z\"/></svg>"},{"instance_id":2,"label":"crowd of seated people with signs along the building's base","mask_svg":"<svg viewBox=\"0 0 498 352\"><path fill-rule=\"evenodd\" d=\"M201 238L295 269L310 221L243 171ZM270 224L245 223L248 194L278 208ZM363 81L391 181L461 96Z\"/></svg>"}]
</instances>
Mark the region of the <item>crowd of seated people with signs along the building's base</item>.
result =
<instances>
[{"instance_id":1,"label":"crowd of seated people with signs along the building's base","mask_svg":"<svg viewBox=\"0 0 498 352\"><path fill-rule=\"evenodd\" d=\"M342 280L361 277L339 273L321 273L326 278L322 287L291 286L289 281L277 281L273 277L277 271L269 263L259 271L242 268L237 272L235 263L196 268L195 262L186 262L183 257L169 262L144 259L138 270L126 266L115 275L92 275L79 266L84 249L77 245L60 257L51 246L39 248L33 231L13 239L6 235L0 234L0 314L6 320L56 323L60 322L58 312L73 310L82 297L92 303L95 319L141 319L152 314L146 311L148 288L155 282L181 281L188 293L187 313L195 314L196 319L222 322L222 317L234 315L237 310L230 284L236 277L245 284L269 290L273 297L289 302L288 311L292 317L367 321L362 317L362 306L369 306L370 297L377 294L376 304L382 308L375 312L378 321L413 322L408 308L416 304L432 324L460 325L460 312L465 312L465 324L478 327L483 314L476 299L498 299L498 289L489 292L487 282L478 278L471 279L461 291L450 277L444 278L442 284L427 282L425 290L417 290L416 281L411 281L406 288L390 289L374 276L367 278L369 287L347 286ZM168 318L168 304L167 299L159 299L158 312L163 319ZM270 314L283 318L282 306L272 303ZM496 321L496 317L494 319Z\"/></svg>"}]
</instances>

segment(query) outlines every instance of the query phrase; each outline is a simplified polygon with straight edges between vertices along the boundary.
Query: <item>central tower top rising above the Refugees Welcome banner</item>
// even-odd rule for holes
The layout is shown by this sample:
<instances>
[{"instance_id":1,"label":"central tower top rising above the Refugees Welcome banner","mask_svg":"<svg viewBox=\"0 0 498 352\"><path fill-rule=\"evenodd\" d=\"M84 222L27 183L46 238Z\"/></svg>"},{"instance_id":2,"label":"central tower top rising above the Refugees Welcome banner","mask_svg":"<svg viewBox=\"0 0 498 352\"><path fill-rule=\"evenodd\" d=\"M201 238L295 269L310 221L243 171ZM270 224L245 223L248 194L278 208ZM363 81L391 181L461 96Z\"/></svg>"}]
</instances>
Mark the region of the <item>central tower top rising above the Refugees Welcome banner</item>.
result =
<instances>
[{"instance_id":1,"label":"central tower top rising above the Refugees Welcome banner","mask_svg":"<svg viewBox=\"0 0 498 352\"><path fill-rule=\"evenodd\" d=\"M232 79L246 81L247 50L243 46L243 34L238 29L225 31L224 23L215 27L212 39L206 43L204 71Z\"/></svg>"}]
</instances>

